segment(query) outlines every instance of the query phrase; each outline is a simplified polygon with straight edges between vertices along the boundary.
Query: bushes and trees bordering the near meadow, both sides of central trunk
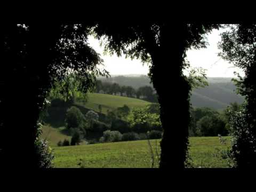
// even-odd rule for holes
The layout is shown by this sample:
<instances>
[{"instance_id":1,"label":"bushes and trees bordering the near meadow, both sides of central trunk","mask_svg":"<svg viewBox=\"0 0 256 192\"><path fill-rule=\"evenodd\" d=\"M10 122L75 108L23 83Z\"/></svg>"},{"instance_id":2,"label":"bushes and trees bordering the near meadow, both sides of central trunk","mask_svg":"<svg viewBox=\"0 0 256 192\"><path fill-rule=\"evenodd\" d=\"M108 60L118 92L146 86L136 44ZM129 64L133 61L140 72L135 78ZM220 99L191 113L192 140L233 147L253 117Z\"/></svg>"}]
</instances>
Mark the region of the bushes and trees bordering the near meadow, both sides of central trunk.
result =
<instances>
[{"instance_id":1,"label":"bushes and trees bordering the near meadow, both sides of central trunk","mask_svg":"<svg viewBox=\"0 0 256 192\"><path fill-rule=\"evenodd\" d=\"M233 108L238 108L233 104ZM191 108L189 136L228 135L230 108L223 113L210 108ZM130 109L124 105L107 111L105 122L99 115L88 111L84 116L77 107L67 110L66 127L72 135L70 143L59 142L59 146L79 145L84 139L89 144L97 142L134 141L162 138L159 105L154 103L144 108ZM64 144L65 143L65 144Z\"/></svg>"}]
</instances>

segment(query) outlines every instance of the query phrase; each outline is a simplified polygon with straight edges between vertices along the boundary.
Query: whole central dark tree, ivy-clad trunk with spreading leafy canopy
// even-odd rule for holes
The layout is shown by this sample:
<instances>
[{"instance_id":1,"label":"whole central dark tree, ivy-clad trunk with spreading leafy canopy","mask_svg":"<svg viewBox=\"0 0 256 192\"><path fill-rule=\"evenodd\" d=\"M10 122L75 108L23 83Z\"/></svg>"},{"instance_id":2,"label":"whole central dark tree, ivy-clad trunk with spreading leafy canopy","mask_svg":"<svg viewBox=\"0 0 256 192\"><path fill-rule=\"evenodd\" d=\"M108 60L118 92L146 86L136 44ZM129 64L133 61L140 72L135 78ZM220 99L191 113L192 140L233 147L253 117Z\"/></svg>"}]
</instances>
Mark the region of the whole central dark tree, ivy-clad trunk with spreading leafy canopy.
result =
<instances>
[{"instance_id":1,"label":"whole central dark tree, ivy-clad trunk with spreading leafy canopy","mask_svg":"<svg viewBox=\"0 0 256 192\"><path fill-rule=\"evenodd\" d=\"M140 25L130 23L98 23L98 37L106 36L106 49L117 55L126 54L150 62L149 76L158 94L161 122L164 129L161 141L160 167L185 166L188 145L189 91L187 78L182 74L184 59L190 47L205 46L204 34L219 25L151 22ZM163 84L169 77L173 98ZM175 102L172 102L172 101ZM175 111L170 114L170 109ZM182 118L182 119L181 119Z\"/></svg>"}]
</instances>

